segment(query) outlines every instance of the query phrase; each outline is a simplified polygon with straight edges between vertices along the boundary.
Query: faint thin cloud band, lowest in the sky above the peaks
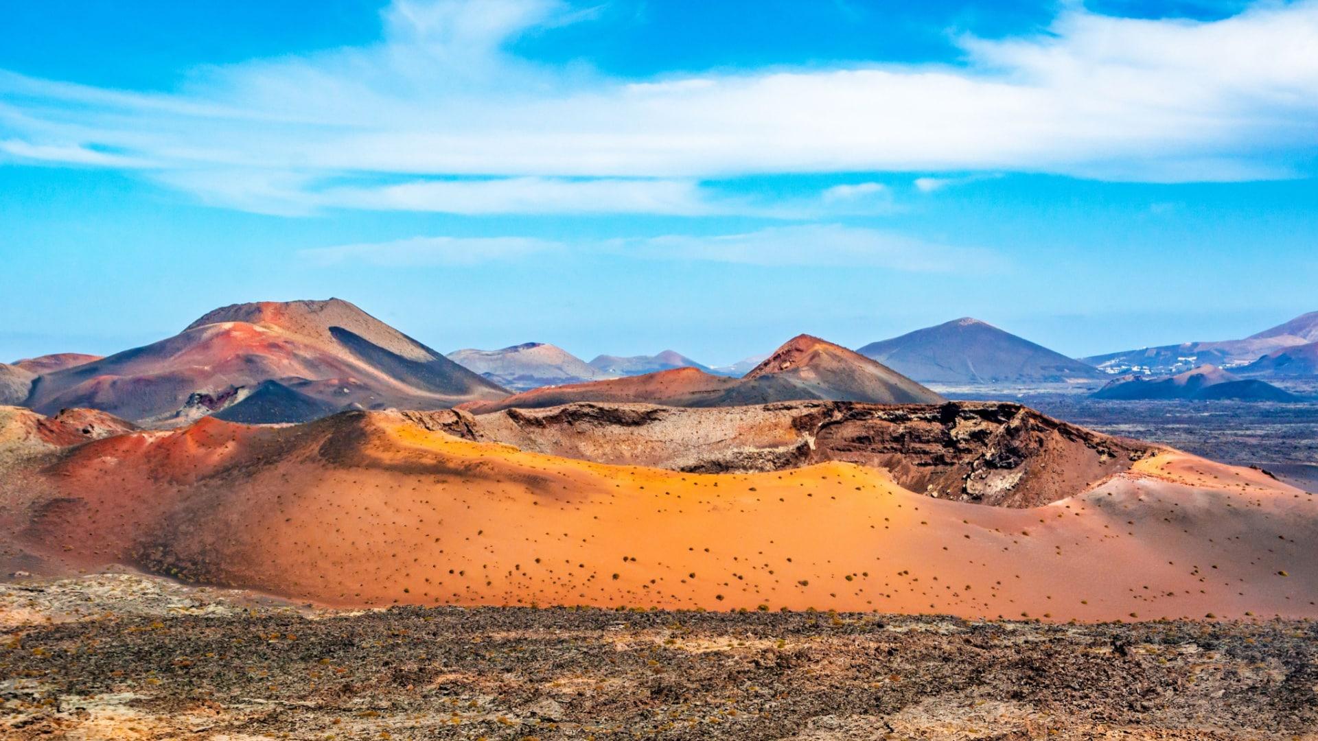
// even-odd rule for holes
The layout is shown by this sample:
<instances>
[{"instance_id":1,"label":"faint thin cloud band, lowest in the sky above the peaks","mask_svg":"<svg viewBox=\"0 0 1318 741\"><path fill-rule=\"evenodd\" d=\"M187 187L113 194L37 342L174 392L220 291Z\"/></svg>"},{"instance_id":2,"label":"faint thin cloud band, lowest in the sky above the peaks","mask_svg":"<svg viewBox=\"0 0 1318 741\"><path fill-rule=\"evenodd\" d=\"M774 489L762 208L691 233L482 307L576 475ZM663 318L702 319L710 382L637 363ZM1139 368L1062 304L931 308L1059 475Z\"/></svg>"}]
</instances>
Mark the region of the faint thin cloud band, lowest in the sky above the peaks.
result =
<instances>
[{"instance_id":1,"label":"faint thin cloud band, lowest in the sky above the peaks","mask_svg":"<svg viewBox=\"0 0 1318 741\"><path fill-rule=\"evenodd\" d=\"M884 268L919 273L994 272L1006 268L1004 260L991 251L838 224L774 227L713 236L666 235L572 243L531 237L414 237L303 249L299 256L315 265L358 262L424 266L473 265L568 251L573 254L594 252L641 260Z\"/></svg>"}]
</instances>

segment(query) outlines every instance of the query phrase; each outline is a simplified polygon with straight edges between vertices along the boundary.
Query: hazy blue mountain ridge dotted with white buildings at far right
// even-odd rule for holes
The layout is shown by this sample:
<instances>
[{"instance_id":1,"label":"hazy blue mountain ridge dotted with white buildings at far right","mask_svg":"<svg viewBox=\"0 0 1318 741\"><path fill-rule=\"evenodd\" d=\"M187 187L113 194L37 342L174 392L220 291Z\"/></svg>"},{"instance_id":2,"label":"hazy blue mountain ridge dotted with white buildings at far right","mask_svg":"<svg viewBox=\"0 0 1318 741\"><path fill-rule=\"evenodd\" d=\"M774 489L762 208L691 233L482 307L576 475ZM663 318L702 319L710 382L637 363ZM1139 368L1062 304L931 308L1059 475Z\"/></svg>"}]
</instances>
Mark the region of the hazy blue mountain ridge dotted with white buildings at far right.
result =
<instances>
[{"instance_id":1,"label":"hazy blue mountain ridge dotted with white buildings at far right","mask_svg":"<svg viewBox=\"0 0 1318 741\"><path fill-rule=\"evenodd\" d=\"M1318 341L1318 311L1310 311L1243 340L1181 343L1083 359L1106 373L1164 376L1202 364L1240 368L1278 349Z\"/></svg>"}]
</instances>

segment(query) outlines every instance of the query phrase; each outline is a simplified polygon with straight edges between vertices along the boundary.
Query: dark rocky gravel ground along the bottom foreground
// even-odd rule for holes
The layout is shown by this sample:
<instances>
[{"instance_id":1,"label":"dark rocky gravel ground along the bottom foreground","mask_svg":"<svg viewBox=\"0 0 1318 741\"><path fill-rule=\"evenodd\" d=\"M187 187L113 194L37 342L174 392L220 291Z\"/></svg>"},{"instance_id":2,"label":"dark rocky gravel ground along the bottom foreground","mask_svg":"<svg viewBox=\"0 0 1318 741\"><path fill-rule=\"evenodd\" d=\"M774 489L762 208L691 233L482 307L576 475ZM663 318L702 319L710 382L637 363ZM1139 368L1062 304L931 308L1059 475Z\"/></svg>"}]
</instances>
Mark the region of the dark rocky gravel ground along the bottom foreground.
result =
<instances>
[{"instance_id":1,"label":"dark rocky gravel ground along the bottom foreground","mask_svg":"<svg viewBox=\"0 0 1318 741\"><path fill-rule=\"evenodd\" d=\"M4 738L1314 738L1313 621L332 613L0 585Z\"/></svg>"}]
</instances>

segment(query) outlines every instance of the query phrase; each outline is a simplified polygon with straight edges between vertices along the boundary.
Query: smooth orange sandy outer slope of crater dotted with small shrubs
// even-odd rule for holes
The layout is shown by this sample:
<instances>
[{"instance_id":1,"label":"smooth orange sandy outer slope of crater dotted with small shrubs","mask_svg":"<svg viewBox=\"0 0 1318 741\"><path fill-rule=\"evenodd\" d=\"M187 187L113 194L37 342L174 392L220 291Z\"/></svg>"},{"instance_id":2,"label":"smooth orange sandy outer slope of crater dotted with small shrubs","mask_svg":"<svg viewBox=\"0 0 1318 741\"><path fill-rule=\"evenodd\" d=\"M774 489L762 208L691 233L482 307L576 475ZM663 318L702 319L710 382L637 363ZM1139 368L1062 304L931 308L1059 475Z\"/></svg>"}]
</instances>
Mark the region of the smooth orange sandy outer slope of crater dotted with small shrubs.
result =
<instances>
[{"instance_id":1,"label":"smooth orange sandy outer slope of crater dotted with small shrubs","mask_svg":"<svg viewBox=\"0 0 1318 741\"><path fill-rule=\"evenodd\" d=\"M344 607L1318 616L1318 497L1182 454L1002 509L845 463L691 475L352 413L120 435L42 477L29 547Z\"/></svg>"}]
</instances>

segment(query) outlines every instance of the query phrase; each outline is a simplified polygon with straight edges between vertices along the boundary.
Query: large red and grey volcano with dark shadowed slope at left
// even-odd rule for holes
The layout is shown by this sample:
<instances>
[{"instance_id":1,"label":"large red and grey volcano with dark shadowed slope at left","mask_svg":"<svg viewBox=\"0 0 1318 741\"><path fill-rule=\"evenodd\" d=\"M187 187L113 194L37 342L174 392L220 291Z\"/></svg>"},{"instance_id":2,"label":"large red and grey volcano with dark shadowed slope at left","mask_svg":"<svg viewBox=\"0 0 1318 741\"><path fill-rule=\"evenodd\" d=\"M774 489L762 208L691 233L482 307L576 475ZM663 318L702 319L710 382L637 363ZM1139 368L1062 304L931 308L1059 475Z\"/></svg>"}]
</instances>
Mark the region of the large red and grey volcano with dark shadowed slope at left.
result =
<instances>
[{"instance_id":1,"label":"large red and grey volcano with dark shadowed slope at left","mask_svg":"<svg viewBox=\"0 0 1318 741\"><path fill-rule=\"evenodd\" d=\"M341 409L440 409L506 390L340 299L237 303L181 334L38 376L28 406L86 406L165 419L192 394L224 396L264 381ZM182 418L179 418L182 419Z\"/></svg>"}]
</instances>

